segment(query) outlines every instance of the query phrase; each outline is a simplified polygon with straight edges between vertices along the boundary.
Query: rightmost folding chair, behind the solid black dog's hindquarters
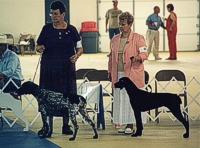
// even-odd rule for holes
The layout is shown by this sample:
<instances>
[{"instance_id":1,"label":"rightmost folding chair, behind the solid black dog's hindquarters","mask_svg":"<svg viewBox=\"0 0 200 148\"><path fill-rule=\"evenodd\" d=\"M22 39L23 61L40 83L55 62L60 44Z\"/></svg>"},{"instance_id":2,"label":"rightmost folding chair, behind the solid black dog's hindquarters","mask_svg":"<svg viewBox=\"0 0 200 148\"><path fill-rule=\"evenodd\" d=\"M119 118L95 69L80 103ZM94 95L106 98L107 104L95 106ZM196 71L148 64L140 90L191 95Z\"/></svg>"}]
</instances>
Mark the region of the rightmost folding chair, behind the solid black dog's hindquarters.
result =
<instances>
[{"instance_id":1,"label":"rightmost folding chair, behind the solid black dog's hindquarters","mask_svg":"<svg viewBox=\"0 0 200 148\"><path fill-rule=\"evenodd\" d=\"M184 108L183 114L185 119L188 121L188 107L187 107L187 90L186 90L186 78L182 71L180 70L161 70L158 71L155 75L155 92L158 93L158 86L162 87L162 91L166 92L166 87L170 85L173 81L181 87L181 91L177 92L180 97L184 98ZM161 82L167 82L165 86L161 85ZM182 83L182 84L181 84ZM159 122L158 108L155 109L156 121Z\"/></svg>"}]
</instances>

